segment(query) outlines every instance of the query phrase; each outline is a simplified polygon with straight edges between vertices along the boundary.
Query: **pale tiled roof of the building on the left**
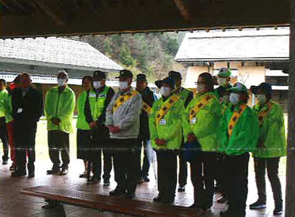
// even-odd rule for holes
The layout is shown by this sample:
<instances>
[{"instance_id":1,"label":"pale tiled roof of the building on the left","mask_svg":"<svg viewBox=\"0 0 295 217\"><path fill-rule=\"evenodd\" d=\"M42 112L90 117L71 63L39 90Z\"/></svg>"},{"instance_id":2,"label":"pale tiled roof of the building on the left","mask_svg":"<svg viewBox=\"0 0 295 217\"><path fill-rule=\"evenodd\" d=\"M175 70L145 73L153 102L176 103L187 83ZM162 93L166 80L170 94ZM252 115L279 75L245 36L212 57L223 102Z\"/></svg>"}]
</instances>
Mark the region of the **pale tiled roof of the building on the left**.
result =
<instances>
[{"instance_id":1,"label":"pale tiled roof of the building on the left","mask_svg":"<svg viewBox=\"0 0 295 217\"><path fill-rule=\"evenodd\" d=\"M67 68L85 67L106 71L123 69L88 43L55 37L1 39L0 58L22 63L27 61L30 65L67 65Z\"/></svg>"}]
</instances>

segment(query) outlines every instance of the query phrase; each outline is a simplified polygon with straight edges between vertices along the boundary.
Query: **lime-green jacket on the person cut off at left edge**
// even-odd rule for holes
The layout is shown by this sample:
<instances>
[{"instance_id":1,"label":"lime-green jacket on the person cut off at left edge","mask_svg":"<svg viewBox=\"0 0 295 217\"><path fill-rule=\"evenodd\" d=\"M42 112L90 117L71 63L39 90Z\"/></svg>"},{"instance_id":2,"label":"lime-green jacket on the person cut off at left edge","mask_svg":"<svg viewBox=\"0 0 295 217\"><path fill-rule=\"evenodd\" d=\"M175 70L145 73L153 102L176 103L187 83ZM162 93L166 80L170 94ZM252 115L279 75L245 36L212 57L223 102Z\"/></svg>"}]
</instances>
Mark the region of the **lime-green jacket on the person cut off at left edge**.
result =
<instances>
[{"instance_id":1,"label":"lime-green jacket on the person cut off at left edge","mask_svg":"<svg viewBox=\"0 0 295 217\"><path fill-rule=\"evenodd\" d=\"M11 107L11 96L6 89L0 91L0 117L5 117L5 122L13 120Z\"/></svg>"}]
</instances>

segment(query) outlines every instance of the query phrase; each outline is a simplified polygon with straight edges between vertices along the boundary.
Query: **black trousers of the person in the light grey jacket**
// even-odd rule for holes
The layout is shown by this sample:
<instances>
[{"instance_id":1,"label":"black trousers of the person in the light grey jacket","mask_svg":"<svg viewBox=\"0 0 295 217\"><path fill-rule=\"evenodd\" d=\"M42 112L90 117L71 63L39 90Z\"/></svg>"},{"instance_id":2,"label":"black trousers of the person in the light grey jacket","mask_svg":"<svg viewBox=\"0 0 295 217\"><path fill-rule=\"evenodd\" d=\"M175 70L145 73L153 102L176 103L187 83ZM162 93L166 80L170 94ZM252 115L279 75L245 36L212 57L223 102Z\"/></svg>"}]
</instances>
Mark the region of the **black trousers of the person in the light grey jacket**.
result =
<instances>
[{"instance_id":1,"label":"black trousers of the person in the light grey jacket","mask_svg":"<svg viewBox=\"0 0 295 217\"><path fill-rule=\"evenodd\" d=\"M136 176L138 172L135 149L138 146L138 139L113 139L114 148L114 170L117 189L126 191L129 194L135 193Z\"/></svg>"}]
</instances>

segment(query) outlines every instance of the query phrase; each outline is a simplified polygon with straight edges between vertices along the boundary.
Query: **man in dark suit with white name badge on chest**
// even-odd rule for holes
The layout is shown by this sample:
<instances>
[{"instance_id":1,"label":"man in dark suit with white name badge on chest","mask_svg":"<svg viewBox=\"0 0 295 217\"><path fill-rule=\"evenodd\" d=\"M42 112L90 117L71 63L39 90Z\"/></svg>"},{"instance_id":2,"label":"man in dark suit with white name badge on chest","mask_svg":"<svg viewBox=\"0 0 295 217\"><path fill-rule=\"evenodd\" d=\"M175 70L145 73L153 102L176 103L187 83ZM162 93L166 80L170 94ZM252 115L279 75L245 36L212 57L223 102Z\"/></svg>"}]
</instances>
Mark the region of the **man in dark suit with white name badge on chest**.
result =
<instances>
[{"instance_id":1,"label":"man in dark suit with white name badge on chest","mask_svg":"<svg viewBox=\"0 0 295 217\"><path fill-rule=\"evenodd\" d=\"M12 176L25 176L25 151L28 152L28 177L34 177L35 137L37 122L43 111L42 95L31 86L31 77L20 76L21 88L12 93L12 116L14 119L14 141L16 145L16 170Z\"/></svg>"}]
</instances>

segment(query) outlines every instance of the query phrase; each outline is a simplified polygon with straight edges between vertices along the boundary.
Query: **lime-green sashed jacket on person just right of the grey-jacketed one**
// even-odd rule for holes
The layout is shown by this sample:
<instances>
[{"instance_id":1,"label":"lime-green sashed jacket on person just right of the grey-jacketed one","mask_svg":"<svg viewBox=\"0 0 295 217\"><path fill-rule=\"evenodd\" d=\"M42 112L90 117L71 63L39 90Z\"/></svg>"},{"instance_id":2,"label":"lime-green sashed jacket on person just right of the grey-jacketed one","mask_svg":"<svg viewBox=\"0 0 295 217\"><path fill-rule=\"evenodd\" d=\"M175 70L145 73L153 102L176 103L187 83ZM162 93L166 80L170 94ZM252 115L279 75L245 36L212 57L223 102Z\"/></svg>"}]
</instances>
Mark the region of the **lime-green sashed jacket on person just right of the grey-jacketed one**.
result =
<instances>
[{"instance_id":1,"label":"lime-green sashed jacket on person just right of the grey-jacketed one","mask_svg":"<svg viewBox=\"0 0 295 217\"><path fill-rule=\"evenodd\" d=\"M169 98L168 98L169 99ZM163 116L165 119L165 125L156 124L156 115L159 109L164 104L163 98L153 103L153 110L149 115L149 129L151 146L160 149L178 149L180 148L182 139L182 112L184 110L183 101L177 100L167 113ZM155 139L164 139L166 144L164 146L157 146Z\"/></svg>"}]
</instances>

